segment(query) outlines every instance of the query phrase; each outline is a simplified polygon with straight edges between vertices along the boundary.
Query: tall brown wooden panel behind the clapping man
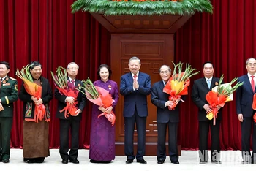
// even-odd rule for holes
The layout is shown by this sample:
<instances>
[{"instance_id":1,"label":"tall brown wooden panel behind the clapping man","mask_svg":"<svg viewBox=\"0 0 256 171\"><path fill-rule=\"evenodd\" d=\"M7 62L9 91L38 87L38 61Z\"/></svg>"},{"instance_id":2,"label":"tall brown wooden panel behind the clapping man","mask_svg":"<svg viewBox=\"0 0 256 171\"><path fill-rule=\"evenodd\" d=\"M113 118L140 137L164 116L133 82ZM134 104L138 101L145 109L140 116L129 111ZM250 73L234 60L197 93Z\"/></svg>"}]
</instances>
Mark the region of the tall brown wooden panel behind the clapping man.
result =
<instances>
[{"instance_id":1,"label":"tall brown wooden panel behind the clapping man","mask_svg":"<svg viewBox=\"0 0 256 171\"><path fill-rule=\"evenodd\" d=\"M151 76L151 85L160 80L158 69L162 64L172 66L174 59L173 34L111 34L112 79L120 86L120 77L129 72L128 62L132 56L141 60L141 72ZM124 97L120 96L116 106L116 155L124 155ZM157 107L148 96L148 118L146 123L146 153L156 155L157 151ZM135 143L137 134L135 130ZM154 146L154 148L152 148Z\"/></svg>"}]
</instances>

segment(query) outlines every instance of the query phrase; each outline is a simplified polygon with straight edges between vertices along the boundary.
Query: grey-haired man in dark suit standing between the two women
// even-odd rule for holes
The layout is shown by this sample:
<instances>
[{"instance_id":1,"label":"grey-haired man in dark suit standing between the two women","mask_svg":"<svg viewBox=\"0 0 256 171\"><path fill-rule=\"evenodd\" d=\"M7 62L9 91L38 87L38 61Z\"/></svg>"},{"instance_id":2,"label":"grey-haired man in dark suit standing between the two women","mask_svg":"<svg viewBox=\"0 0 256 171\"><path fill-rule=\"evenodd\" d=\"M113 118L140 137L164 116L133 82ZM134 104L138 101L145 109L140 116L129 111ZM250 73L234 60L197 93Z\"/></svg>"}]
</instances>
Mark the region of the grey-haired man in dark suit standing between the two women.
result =
<instances>
[{"instance_id":1,"label":"grey-haired man in dark suit standing between the two women","mask_svg":"<svg viewBox=\"0 0 256 171\"><path fill-rule=\"evenodd\" d=\"M67 74L68 81L75 84L75 87L82 85L82 82L76 79L76 75L78 75L78 64L75 62L71 62L67 65ZM54 92L55 98L58 100L58 110L56 113L56 117L59 118L60 121L60 146L59 153L61 155L62 163L67 164L68 159L70 162L78 164L78 148L79 148L79 128L80 121L82 119L82 111L86 106L86 96L79 92L76 107L78 110L75 111L76 115L69 115L69 117L65 118L64 112L60 112L64 107L66 107L66 102L69 104L74 104L75 99L72 96L64 96L61 95L58 89L55 89ZM69 129L71 129L71 149L69 151ZM69 153L68 153L69 151Z\"/></svg>"}]
</instances>

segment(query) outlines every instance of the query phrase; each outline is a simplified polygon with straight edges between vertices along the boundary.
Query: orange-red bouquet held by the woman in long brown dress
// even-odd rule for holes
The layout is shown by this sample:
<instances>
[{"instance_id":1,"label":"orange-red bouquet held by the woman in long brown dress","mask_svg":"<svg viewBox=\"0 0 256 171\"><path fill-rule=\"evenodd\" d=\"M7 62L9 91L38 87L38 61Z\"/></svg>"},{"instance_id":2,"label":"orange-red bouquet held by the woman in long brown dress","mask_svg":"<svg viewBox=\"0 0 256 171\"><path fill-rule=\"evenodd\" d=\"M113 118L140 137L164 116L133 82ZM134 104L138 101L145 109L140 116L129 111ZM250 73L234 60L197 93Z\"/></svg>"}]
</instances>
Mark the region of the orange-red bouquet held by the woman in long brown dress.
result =
<instances>
[{"instance_id":1,"label":"orange-red bouquet held by the woman in long brown dress","mask_svg":"<svg viewBox=\"0 0 256 171\"><path fill-rule=\"evenodd\" d=\"M33 81L33 77L31 76L29 72L29 67L31 65L23 66L21 70L17 69L16 75L20 77L21 80L23 80L24 88L26 89L26 92L30 94L31 96L35 96L37 99L40 99L42 97L42 86L38 86ZM42 121L43 118L45 118L45 121L50 121L50 118L46 115L45 105L44 104L35 104L34 109L34 118L25 118L25 121Z\"/></svg>"}]
</instances>

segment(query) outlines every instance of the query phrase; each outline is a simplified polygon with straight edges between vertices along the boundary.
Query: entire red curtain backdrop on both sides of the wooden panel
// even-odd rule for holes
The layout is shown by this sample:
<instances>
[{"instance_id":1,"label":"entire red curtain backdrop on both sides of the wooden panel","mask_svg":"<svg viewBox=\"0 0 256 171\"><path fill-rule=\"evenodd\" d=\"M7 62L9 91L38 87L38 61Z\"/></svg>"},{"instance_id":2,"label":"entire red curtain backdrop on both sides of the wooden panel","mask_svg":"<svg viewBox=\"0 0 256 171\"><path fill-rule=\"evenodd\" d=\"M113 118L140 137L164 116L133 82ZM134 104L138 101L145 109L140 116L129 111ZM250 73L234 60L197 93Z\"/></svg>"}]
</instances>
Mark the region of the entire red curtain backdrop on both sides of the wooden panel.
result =
<instances>
[{"instance_id":1,"label":"entire red curtain backdrop on both sides of the wooden panel","mask_svg":"<svg viewBox=\"0 0 256 171\"><path fill-rule=\"evenodd\" d=\"M71 61L79 64L78 78L96 80L99 64L110 64L110 34L87 12L71 13L74 0L0 0L0 61L15 70L39 61L42 75L48 77L57 66ZM176 62L191 64L202 71L204 61L215 65L214 76L225 75L225 83L246 74L246 58L256 56L255 0L213 0L214 13L196 13L176 33ZM203 73L192 77L203 77ZM116 80L119 81L119 80ZM18 79L20 85L21 80ZM191 86L192 86L191 83ZM182 104L179 139L183 149L197 149L197 107L189 95ZM240 123L236 115L236 96L223 109L222 150L241 148ZM56 99L50 103L50 148L59 148L59 119L55 118ZM22 103L15 102L12 147L22 148ZM80 148L88 148L91 103L83 111ZM211 140L209 139L209 142Z\"/></svg>"}]
</instances>

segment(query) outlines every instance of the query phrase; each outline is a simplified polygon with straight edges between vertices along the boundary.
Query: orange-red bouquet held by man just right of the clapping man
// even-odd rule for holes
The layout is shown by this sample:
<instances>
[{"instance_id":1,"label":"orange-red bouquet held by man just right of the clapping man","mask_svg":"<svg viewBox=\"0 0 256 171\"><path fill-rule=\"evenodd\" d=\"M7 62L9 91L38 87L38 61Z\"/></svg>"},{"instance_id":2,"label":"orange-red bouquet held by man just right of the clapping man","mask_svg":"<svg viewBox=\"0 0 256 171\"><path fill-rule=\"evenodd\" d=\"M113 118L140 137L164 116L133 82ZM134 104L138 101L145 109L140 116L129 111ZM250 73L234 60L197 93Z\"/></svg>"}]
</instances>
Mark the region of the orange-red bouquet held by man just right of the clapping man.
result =
<instances>
[{"instance_id":1,"label":"orange-red bouquet held by man just right of the clapping man","mask_svg":"<svg viewBox=\"0 0 256 171\"><path fill-rule=\"evenodd\" d=\"M197 75L200 72L194 72L196 69L192 69L190 64L186 64L184 72L182 72L183 63L173 63L173 65L173 75L170 77L163 89L163 92L170 95L169 100L173 102L173 105L169 106L169 110L174 110L179 101L184 102L181 99L181 96L188 94L187 88L190 85L190 77ZM178 73L176 73L177 69Z\"/></svg>"}]
</instances>

